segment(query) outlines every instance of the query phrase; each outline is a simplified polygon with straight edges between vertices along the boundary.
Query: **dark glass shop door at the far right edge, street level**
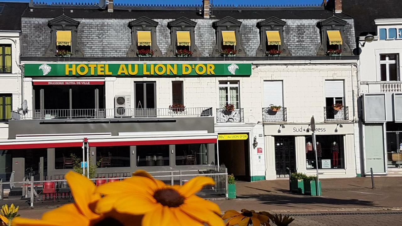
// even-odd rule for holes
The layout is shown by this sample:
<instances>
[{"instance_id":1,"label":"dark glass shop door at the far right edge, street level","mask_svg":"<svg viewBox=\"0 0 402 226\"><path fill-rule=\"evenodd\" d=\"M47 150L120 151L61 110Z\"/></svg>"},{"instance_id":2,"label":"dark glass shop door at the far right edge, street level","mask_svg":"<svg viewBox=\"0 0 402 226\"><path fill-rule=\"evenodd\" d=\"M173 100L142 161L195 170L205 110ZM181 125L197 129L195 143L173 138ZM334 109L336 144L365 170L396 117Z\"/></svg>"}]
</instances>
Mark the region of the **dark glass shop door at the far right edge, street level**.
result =
<instances>
[{"instance_id":1,"label":"dark glass shop door at the far right edge, street level","mask_svg":"<svg viewBox=\"0 0 402 226\"><path fill-rule=\"evenodd\" d=\"M401 168L402 131L387 132L387 167Z\"/></svg>"}]
</instances>

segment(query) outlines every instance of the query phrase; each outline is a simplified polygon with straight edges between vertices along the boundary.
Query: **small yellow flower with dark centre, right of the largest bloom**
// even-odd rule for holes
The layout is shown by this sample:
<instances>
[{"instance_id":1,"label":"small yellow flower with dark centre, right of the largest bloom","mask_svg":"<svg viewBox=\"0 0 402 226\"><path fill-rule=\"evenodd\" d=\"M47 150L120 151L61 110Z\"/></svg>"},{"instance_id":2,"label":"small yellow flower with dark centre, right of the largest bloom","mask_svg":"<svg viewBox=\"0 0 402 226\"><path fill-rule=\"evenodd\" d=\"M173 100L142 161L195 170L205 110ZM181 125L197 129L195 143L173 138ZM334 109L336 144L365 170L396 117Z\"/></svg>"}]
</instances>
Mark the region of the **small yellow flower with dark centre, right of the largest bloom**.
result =
<instances>
[{"instance_id":1,"label":"small yellow flower with dark centre, right of the largest bloom","mask_svg":"<svg viewBox=\"0 0 402 226\"><path fill-rule=\"evenodd\" d=\"M242 210L240 213L236 210L228 210L225 212L222 219L226 220L226 226L233 226L238 224L239 226L248 226L252 224L253 226L269 225L269 218L262 214L257 214L254 210Z\"/></svg>"}]
</instances>

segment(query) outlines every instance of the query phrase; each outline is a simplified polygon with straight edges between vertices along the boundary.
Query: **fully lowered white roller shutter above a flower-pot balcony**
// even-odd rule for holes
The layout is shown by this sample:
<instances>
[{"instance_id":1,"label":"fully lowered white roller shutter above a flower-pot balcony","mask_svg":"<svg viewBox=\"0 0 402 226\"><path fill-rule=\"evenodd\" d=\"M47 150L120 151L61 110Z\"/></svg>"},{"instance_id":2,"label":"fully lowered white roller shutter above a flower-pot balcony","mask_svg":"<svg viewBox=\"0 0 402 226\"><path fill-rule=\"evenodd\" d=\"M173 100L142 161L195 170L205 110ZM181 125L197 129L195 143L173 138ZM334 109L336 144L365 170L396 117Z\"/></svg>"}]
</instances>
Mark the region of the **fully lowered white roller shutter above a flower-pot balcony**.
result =
<instances>
[{"instance_id":1,"label":"fully lowered white roller shutter above a flower-pot balcony","mask_svg":"<svg viewBox=\"0 0 402 226\"><path fill-rule=\"evenodd\" d=\"M264 81L264 107L271 104L283 106L282 81Z\"/></svg>"}]
</instances>

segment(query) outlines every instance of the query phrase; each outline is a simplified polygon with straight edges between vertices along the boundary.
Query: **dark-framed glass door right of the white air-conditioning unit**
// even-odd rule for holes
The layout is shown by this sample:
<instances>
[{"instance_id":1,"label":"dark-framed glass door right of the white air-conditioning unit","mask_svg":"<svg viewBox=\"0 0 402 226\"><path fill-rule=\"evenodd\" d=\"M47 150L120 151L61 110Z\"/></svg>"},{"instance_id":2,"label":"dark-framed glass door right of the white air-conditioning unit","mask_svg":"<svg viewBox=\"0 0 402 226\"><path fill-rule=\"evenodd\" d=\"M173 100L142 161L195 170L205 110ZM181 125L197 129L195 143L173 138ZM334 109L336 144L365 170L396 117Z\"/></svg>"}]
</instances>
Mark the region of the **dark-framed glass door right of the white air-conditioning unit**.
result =
<instances>
[{"instance_id":1,"label":"dark-framed glass door right of the white air-conditioning unit","mask_svg":"<svg viewBox=\"0 0 402 226\"><path fill-rule=\"evenodd\" d=\"M155 82L134 82L135 117L156 117Z\"/></svg>"}]
</instances>

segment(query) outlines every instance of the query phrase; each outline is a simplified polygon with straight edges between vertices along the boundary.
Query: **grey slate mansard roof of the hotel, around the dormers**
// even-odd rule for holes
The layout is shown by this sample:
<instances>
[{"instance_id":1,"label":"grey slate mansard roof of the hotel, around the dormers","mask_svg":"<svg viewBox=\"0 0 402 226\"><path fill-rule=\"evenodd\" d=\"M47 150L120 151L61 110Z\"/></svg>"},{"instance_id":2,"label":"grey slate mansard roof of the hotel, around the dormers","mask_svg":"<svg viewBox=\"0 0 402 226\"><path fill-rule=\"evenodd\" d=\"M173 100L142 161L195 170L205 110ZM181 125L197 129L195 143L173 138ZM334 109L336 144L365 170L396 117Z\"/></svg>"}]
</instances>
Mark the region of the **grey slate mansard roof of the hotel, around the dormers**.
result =
<instances>
[{"instance_id":1,"label":"grey slate mansard roof of the hotel, around the dormers","mask_svg":"<svg viewBox=\"0 0 402 226\"><path fill-rule=\"evenodd\" d=\"M68 7L68 6L64 6ZM64 14L79 21L78 42L85 57L125 57L131 44L131 30L128 23L135 18L147 16L157 21L156 37L158 46L163 54L170 45L170 30L167 23L185 16L195 22L195 43L203 57L211 55L215 44L215 29L212 23L225 16L232 16L242 21L240 33L242 46L247 56L255 56L260 43L259 30L256 24L271 16L286 21L284 41L292 56L316 56L320 43L320 29L317 23L333 15L323 7L301 8L229 8L213 9L213 16L204 19L196 7L182 8L114 8L114 12L92 6L71 6L64 8ZM72 11L71 11L72 10ZM41 57L50 43L50 28L47 26L51 18L63 14L62 7L42 6L25 11L22 18L23 56ZM347 21L345 41L351 49L355 48L353 19L345 14L336 14Z\"/></svg>"}]
</instances>

